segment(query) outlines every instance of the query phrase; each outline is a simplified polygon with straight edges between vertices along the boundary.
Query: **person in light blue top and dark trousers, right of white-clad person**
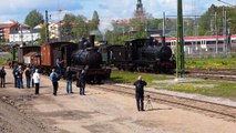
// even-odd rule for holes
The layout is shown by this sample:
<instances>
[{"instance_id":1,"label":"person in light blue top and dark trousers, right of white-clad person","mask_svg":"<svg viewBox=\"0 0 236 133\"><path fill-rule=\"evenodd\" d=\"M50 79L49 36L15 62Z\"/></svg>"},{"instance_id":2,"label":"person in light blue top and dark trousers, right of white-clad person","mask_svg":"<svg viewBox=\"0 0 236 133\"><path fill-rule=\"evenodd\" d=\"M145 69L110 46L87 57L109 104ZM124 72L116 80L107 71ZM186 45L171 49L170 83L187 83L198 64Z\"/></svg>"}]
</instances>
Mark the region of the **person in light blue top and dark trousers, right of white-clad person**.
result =
<instances>
[{"instance_id":1,"label":"person in light blue top and dark trousers, right of white-clad person","mask_svg":"<svg viewBox=\"0 0 236 133\"><path fill-rule=\"evenodd\" d=\"M58 88L59 88L59 82L58 81L60 80L60 76L55 72L55 69L52 69L52 72L50 74L50 80L52 81L52 85L53 85L53 95L57 95Z\"/></svg>"}]
</instances>

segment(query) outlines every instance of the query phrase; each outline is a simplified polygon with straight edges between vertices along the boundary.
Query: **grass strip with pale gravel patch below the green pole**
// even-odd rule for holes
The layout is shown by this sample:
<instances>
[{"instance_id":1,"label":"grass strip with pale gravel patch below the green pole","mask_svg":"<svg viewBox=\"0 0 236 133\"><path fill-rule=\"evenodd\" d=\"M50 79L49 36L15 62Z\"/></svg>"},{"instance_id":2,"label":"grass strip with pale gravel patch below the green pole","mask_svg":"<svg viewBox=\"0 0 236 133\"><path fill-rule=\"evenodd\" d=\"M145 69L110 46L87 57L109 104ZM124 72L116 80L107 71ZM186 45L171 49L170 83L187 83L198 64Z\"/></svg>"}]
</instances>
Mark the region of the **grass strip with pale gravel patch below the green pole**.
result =
<instances>
[{"instance_id":1,"label":"grass strip with pale gravel patch below the green pole","mask_svg":"<svg viewBox=\"0 0 236 133\"><path fill-rule=\"evenodd\" d=\"M225 98L236 101L236 83L228 81L211 81L186 79L186 82L174 82L174 75L142 73L142 78L147 82L147 86L158 90L170 90L185 93L197 93L207 96ZM117 83L133 85L138 73L113 71L111 79Z\"/></svg>"}]
</instances>

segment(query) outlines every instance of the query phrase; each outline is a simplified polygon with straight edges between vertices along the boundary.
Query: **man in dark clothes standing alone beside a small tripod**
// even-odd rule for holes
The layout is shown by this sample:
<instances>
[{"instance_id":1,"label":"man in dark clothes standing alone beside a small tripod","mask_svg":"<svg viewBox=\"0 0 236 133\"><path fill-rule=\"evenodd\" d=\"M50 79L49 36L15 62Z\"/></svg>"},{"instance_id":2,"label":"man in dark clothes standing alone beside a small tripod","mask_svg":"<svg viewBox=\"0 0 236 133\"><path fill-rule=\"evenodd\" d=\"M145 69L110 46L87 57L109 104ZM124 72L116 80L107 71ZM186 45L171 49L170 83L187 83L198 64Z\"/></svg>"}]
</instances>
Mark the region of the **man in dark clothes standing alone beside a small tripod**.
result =
<instances>
[{"instance_id":1,"label":"man in dark clothes standing alone beside a small tripod","mask_svg":"<svg viewBox=\"0 0 236 133\"><path fill-rule=\"evenodd\" d=\"M134 82L135 85L135 98L136 98L136 105L137 111L144 111L144 86L146 85L146 82L142 80L142 76L140 75L137 80Z\"/></svg>"}]
</instances>

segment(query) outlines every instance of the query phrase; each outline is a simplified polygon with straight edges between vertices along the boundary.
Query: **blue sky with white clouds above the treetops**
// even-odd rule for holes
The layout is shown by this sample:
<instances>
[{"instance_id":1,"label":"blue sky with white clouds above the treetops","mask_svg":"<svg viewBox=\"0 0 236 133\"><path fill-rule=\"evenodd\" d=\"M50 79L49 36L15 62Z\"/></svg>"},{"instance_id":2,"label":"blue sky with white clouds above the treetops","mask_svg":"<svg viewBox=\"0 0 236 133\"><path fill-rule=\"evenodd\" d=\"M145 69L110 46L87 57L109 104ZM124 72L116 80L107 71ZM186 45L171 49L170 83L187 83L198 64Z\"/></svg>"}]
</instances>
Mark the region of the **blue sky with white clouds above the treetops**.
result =
<instances>
[{"instance_id":1,"label":"blue sky with white clouds above the treetops","mask_svg":"<svg viewBox=\"0 0 236 133\"><path fill-rule=\"evenodd\" d=\"M222 0L236 6L236 0ZM212 4L223 6L218 0L182 0L184 16L201 16ZM114 19L130 19L136 9L137 0L1 0L0 23L8 20L24 22L27 14L37 9L44 16L49 11L49 21L58 21L64 13L83 14L92 18L96 10L102 22ZM142 0L146 12L154 18L176 17L177 0ZM61 10L61 11L60 11Z\"/></svg>"}]
</instances>

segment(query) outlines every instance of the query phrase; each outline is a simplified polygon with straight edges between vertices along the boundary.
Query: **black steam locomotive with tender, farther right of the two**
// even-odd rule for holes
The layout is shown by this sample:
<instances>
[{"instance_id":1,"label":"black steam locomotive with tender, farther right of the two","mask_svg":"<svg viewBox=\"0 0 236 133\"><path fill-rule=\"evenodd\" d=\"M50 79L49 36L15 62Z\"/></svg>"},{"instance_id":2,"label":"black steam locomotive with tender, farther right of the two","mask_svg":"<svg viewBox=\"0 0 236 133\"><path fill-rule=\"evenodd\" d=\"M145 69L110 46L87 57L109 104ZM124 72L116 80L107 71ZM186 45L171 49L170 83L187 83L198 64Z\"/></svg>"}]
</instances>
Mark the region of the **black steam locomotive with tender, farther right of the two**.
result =
<instances>
[{"instance_id":1,"label":"black steam locomotive with tender, farther right of the two","mask_svg":"<svg viewBox=\"0 0 236 133\"><path fill-rule=\"evenodd\" d=\"M135 39L125 45L110 45L107 60L119 70L173 73L176 64L172 49L153 38Z\"/></svg>"}]
</instances>

